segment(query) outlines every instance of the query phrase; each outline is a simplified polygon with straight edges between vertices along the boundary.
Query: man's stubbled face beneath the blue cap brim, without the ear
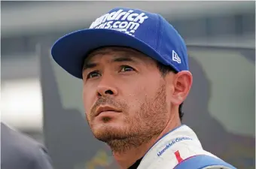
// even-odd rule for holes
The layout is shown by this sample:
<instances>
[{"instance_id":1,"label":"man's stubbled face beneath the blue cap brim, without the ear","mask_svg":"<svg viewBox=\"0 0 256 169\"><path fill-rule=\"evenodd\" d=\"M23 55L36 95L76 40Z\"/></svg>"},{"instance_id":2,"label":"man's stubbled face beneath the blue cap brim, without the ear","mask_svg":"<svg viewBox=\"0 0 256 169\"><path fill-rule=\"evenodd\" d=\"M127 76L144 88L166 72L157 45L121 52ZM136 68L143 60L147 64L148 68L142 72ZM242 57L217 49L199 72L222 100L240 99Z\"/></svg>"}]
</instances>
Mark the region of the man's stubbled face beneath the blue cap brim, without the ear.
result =
<instances>
[{"instance_id":1,"label":"man's stubbled face beneath the blue cap brim, without the ear","mask_svg":"<svg viewBox=\"0 0 256 169\"><path fill-rule=\"evenodd\" d=\"M90 128L97 139L111 146L133 140L139 146L160 134L169 120L166 81L157 64L136 50L93 51L84 64L83 81Z\"/></svg>"}]
</instances>

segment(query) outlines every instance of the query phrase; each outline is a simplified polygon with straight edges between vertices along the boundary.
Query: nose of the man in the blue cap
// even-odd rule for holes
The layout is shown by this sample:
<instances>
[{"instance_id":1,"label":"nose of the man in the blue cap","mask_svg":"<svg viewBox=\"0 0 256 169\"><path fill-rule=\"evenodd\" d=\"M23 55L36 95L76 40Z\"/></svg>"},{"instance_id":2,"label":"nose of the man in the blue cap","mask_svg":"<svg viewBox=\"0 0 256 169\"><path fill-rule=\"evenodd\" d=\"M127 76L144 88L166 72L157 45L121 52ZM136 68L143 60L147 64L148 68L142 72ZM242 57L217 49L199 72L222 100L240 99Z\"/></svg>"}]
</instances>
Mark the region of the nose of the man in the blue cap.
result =
<instances>
[{"instance_id":1,"label":"nose of the man in the blue cap","mask_svg":"<svg viewBox=\"0 0 256 169\"><path fill-rule=\"evenodd\" d=\"M117 87L114 83L114 78L111 76L102 76L98 85L97 95L99 97L117 95Z\"/></svg>"}]
</instances>

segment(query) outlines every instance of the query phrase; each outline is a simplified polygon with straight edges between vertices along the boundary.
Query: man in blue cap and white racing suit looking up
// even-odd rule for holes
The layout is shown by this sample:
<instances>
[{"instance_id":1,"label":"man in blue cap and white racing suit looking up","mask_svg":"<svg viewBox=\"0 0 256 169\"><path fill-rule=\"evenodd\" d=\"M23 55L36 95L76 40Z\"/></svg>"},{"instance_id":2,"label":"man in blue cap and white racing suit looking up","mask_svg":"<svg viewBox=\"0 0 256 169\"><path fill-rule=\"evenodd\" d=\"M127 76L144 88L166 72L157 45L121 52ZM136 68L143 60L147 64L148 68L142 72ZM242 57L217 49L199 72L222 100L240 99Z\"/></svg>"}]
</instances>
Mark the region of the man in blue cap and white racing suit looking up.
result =
<instances>
[{"instance_id":1,"label":"man in blue cap and white racing suit looking up","mask_svg":"<svg viewBox=\"0 0 256 169\"><path fill-rule=\"evenodd\" d=\"M114 8L51 53L83 80L90 128L121 168L235 168L181 124L193 78L184 40L159 14Z\"/></svg>"}]
</instances>

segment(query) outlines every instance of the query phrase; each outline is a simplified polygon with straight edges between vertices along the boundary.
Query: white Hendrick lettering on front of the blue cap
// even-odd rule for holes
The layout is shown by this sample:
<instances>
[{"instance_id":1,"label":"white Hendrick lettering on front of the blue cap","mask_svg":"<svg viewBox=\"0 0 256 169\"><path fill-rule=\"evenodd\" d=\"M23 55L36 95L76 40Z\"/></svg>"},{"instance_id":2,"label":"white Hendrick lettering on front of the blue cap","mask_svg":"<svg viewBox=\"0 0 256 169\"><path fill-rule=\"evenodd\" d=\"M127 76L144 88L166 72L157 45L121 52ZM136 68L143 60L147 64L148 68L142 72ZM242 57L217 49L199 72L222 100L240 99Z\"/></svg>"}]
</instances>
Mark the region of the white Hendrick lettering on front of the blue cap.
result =
<instances>
[{"instance_id":1,"label":"white Hendrick lettering on front of the blue cap","mask_svg":"<svg viewBox=\"0 0 256 169\"><path fill-rule=\"evenodd\" d=\"M139 26L148 19L148 16L141 12L136 13L133 10L123 11L123 9L110 11L108 14L97 18L91 25L90 29L114 29L132 35Z\"/></svg>"}]
</instances>

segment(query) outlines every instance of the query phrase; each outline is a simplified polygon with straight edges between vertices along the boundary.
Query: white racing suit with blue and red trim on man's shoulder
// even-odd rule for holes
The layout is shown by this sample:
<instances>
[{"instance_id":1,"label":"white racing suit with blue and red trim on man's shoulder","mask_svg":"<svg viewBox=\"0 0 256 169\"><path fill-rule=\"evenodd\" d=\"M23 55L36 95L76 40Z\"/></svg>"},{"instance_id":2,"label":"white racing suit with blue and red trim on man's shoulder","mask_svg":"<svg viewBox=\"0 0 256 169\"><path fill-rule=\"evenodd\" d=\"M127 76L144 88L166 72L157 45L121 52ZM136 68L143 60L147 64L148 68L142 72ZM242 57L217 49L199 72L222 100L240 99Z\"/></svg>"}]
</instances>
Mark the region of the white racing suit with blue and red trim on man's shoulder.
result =
<instances>
[{"instance_id":1,"label":"white racing suit with blue and red trim on man's shoulder","mask_svg":"<svg viewBox=\"0 0 256 169\"><path fill-rule=\"evenodd\" d=\"M217 140L218 141L218 140ZM138 169L236 169L203 149L187 125L165 134L142 158Z\"/></svg>"}]
</instances>

